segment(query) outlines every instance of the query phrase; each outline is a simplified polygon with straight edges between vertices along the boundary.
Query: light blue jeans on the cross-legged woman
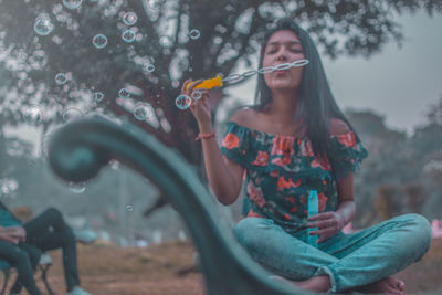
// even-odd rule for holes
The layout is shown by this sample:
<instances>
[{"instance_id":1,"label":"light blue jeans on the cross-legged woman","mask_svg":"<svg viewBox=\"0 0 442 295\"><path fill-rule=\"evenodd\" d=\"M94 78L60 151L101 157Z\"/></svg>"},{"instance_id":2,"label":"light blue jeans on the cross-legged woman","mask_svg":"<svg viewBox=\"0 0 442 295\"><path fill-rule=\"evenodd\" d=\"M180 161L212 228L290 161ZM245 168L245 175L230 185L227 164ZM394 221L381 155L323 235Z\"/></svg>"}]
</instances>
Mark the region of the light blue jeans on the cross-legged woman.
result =
<instances>
[{"instance_id":1,"label":"light blue jeans on the cross-legged woman","mask_svg":"<svg viewBox=\"0 0 442 295\"><path fill-rule=\"evenodd\" d=\"M419 214L396 217L351 234L338 232L317 249L307 243L306 230L288 234L269 219L245 218L233 232L273 273L293 281L328 275L329 293L393 275L422 259L431 243L430 223Z\"/></svg>"}]
</instances>

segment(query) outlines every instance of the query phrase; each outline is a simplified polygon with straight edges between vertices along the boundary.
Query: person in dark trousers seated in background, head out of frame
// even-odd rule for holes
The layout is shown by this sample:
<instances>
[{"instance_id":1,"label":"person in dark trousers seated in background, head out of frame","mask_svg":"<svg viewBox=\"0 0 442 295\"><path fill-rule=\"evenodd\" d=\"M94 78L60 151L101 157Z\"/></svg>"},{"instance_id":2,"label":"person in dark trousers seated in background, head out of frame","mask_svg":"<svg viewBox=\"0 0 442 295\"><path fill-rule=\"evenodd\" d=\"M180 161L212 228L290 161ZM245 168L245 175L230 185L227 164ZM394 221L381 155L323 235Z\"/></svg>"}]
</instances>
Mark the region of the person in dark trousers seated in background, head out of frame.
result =
<instances>
[{"instance_id":1,"label":"person in dark trousers seated in background, head out of frame","mask_svg":"<svg viewBox=\"0 0 442 295\"><path fill-rule=\"evenodd\" d=\"M17 268L18 277L10 294L22 286L31 295L42 294L35 285L33 271L43 251L62 249L64 277L69 295L90 295L80 287L76 240L61 212L54 208L22 224L0 201L0 259Z\"/></svg>"}]
</instances>

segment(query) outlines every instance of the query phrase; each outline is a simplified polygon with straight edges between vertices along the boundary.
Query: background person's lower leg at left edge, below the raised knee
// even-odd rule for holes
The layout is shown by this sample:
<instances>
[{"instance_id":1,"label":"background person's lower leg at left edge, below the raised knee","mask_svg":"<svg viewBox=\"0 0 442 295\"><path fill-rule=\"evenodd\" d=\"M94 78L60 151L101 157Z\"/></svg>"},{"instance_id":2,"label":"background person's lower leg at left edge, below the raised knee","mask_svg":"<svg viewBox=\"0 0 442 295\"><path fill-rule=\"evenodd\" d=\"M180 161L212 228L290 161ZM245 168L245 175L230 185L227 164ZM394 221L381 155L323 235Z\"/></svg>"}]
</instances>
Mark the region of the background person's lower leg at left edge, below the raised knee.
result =
<instances>
[{"instance_id":1,"label":"background person's lower leg at left edge, below the raised knee","mask_svg":"<svg viewBox=\"0 0 442 295\"><path fill-rule=\"evenodd\" d=\"M18 294L21 287L24 286L31 295L41 295L42 293L35 285L33 274L41 252L38 249L31 249L31 246L24 246L24 249L23 243L19 246L6 241L0 241L0 259L8 261L9 264L17 268L18 273L17 281L10 293Z\"/></svg>"}]
</instances>

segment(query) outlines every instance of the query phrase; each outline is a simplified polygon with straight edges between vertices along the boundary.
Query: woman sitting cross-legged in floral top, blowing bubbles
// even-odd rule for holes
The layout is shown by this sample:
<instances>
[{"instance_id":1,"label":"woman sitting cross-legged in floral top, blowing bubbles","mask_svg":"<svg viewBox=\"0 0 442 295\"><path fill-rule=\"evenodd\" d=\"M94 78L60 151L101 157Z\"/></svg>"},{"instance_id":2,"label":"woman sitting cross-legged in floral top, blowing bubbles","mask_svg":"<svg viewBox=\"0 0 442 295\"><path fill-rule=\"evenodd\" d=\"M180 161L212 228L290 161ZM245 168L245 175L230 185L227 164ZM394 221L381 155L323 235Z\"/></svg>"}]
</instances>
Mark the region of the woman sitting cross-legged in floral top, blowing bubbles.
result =
<instances>
[{"instance_id":1,"label":"woman sitting cross-legged in floral top, blowing bubbles","mask_svg":"<svg viewBox=\"0 0 442 295\"><path fill-rule=\"evenodd\" d=\"M221 203L231 204L244 180L245 218L234 234L255 261L278 275L273 277L316 292L401 294L404 283L391 275L424 255L430 224L406 214L341 232L356 212L354 172L367 150L337 106L308 34L287 19L266 33L260 69L304 59L309 61L304 67L259 76L255 106L233 115L221 149L207 91L192 102L209 185ZM182 93L190 96L199 83ZM313 190L319 212L308 218Z\"/></svg>"}]
</instances>

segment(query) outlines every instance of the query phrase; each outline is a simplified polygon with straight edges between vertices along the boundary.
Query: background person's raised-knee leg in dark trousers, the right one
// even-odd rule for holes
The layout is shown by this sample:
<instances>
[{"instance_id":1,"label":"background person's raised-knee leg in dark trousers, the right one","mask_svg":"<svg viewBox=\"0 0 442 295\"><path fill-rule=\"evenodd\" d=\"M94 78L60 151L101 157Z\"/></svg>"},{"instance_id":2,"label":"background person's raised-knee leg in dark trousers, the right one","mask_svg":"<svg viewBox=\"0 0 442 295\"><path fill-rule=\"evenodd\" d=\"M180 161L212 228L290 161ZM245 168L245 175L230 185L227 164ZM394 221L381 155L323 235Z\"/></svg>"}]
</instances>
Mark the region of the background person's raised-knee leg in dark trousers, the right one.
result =
<instances>
[{"instance_id":1,"label":"background person's raised-knee leg in dark trousers, the right one","mask_svg":"<svg viewBox=\"0 0 442 295\"><path fill-rule=\"evenodd\" d=\"M27 230L27 243L35 245L43 251L63 250L63 266L67 292L80 289L76 240L61 212L50 208L23 226Z\"/></svg>"}]
</instances>

